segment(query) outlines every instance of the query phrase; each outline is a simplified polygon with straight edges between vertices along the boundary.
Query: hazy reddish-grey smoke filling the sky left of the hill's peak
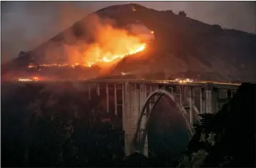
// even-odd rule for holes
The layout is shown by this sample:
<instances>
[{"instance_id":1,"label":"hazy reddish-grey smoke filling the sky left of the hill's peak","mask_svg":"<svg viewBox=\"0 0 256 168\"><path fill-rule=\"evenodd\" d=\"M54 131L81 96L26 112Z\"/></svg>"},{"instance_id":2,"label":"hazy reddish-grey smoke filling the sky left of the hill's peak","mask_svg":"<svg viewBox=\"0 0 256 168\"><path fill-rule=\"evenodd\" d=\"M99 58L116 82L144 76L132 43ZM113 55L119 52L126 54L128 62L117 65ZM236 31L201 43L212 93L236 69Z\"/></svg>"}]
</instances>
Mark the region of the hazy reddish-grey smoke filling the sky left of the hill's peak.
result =
<instances>
[{"instance_id":1,"label":"hazy reddish-grey smoke filling the sky left of the hill's peak","mask_svg":"<svg viewBox=\"0 0 256 168\"><path fill-rule=\"evenodd\" d=\"M41 45L92 11L70 1L1 2L1 62Z\"/></svg>"}]
</instances>

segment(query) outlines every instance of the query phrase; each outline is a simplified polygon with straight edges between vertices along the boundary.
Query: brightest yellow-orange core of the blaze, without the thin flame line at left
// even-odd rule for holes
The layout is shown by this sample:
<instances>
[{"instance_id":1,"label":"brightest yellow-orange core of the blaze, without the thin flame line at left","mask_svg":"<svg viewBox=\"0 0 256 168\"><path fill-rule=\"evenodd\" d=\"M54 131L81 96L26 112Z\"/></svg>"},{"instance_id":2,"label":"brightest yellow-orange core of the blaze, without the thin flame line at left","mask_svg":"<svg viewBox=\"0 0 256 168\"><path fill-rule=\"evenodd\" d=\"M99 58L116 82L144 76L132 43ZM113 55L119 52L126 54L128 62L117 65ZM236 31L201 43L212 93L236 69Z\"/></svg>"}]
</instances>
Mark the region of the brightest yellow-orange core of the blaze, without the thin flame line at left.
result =
<instances>
[{"instance_id":1,"label":"brightest yellow-orange core of the blaze, without the thin flame line at left","mask_svg":"<svg viewBox=\"0 0 256 168\"><path fill-rule=\"evenodd\" d=\"M98 21L96 24L94 34L97 42L88 46L82 45L82 53L74 51L76 48L70 48L71 62L79 62L88 67L95 64L112 65L126 56L143 51L146 47L146 43L142 43L139 37L124 29L114 28L109 24L102 25Z\"/></svg>"}]
</instances>

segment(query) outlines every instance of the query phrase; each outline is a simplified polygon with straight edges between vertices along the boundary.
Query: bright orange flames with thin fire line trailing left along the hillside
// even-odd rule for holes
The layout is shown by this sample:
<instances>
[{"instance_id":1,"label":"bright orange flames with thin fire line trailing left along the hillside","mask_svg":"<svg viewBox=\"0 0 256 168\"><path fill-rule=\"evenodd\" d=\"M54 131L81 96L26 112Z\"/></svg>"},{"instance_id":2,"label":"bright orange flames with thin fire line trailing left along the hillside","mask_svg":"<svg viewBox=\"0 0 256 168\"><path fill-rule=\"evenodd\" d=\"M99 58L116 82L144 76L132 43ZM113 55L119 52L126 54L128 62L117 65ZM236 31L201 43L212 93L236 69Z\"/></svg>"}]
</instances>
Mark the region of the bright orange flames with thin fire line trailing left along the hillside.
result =
<instances>
[{"instance_id":1,"label":"bright orange flames with thin fire line trailing left along the hillside","mask_svg":"<svg viewBox=\"0 0 256 168\"><path fill-rule=\"evenodd\" d=\"M107 23L106 23L107 22ZM130 34L127 30L114 28L109 21L102 21L98 16L92 16L89 19L89 25L84 26L88 34L94 36L94 43L78 43L74 46L64 45L64 52L67 54L68 63L59 64L43 64L39 66L67 66L83 65L92 67L99 65L104 68L114 65L117 61L121 61L126 56L143 51L146 43L142 43L139 36ZM53 51L53 50L52 50ZM53 55L49 52L49 56ZM56 55L54 53L54 55ZM29 65L33 68L34 65Z\"/></svg>"}]
</instances>

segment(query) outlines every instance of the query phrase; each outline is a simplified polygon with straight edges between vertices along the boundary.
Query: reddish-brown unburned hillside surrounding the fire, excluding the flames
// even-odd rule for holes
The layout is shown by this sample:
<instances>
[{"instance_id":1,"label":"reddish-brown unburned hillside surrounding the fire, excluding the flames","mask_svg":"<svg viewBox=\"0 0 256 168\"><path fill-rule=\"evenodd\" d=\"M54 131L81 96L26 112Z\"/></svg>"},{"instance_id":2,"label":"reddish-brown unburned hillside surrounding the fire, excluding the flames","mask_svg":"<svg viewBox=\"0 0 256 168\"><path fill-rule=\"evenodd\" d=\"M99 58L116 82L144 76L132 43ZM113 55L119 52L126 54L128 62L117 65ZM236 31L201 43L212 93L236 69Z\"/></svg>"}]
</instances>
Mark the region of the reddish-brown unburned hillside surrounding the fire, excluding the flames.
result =
<instances>
[{"instance_id":1,"label":"reddish-brown unburned hillside surrounding the fire, excluding the flames","mask_svg":"<svg viewBox=\"0 0 256 168\"><path fill-rule=\"evenodd\" d=\"M145 51L137 53L140 59L124 58L112 72L136 70L137 73L199 76L205 80L256 80L256 35L252 33L223 29L190 19L185 14L156 11L137 4L109 6L94 14L107 18L115 27L124 28L139 22L154 31L154 41L147 45ZM14 69L24 70L23 67L29 63L61 62L61 54L64 57L65 53L59 47L76 46L77 41L94 41L93 31L84 26L90 21L89 16L84 17L41 46L22 53L22 56L4 65L4 73ZM49 55L46 52L49 48L56 49L52 54L57 52L58 59L46 56Z\"/></svg>"}]
</instances>

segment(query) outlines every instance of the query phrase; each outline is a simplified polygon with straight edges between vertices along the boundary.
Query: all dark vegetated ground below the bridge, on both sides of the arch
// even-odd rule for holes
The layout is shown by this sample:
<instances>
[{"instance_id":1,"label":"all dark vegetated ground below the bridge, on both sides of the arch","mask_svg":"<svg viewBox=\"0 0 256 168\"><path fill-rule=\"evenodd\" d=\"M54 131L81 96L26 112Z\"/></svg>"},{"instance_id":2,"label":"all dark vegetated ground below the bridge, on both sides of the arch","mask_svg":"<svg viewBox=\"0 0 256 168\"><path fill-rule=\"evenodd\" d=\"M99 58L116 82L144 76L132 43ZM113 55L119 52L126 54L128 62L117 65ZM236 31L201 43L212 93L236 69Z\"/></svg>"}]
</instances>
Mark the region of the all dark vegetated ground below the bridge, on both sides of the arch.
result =
<instances>
[{"instance_id":1,"label":"all dark vegetated ground below the bridge, on both sides of the arch","mask_svg":"<svg viewBox=\"0 0 256 168\"><path fill-rule=\"evenodd\" d=\"M255 85L240 86L216 115L202 115L184 157L159 148L149 158L124 157L120 119L104 113L100 98L89 101L69 83L51 87L28 84L2 98L1 166L255 167Z\"/></svg>"}]
</instances>

